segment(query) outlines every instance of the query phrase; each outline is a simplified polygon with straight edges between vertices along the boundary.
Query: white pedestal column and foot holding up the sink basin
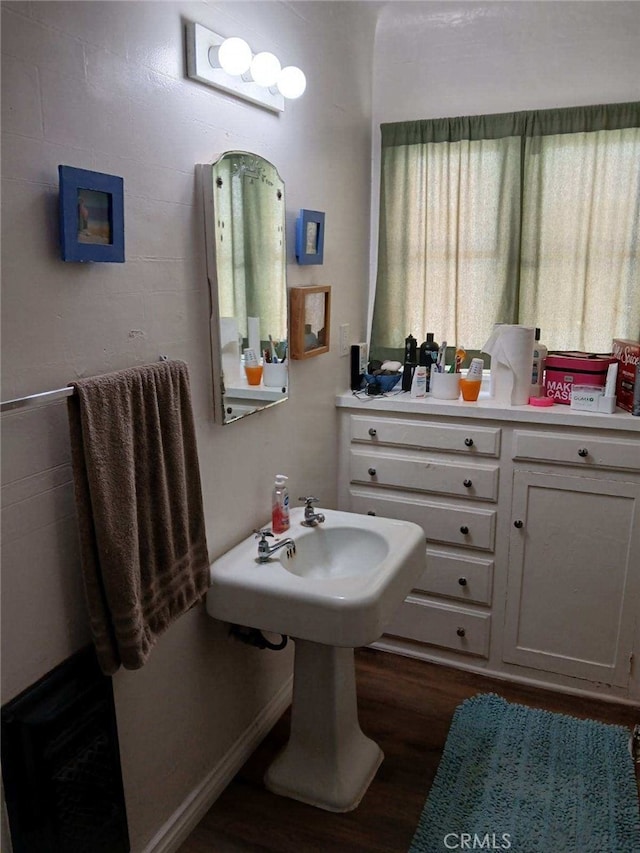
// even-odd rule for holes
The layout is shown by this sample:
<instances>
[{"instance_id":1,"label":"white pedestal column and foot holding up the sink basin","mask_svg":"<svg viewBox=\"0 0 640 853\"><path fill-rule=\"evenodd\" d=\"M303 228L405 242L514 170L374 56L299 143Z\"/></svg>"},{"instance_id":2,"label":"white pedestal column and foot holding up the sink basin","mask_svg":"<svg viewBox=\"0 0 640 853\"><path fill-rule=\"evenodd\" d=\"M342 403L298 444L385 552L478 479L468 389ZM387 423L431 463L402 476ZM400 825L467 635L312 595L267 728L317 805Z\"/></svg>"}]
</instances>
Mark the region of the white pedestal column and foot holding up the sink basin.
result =
<instances>
[{"instance_id":1,"label":"white pedestal column and foot holding up the sink basin","mask_svg":"<svg viewBox=\"0 0 640 853\"><path fill-rule=\"evenodd\" d=\"M265 785L274 794L348 812L384 758L358 722L353 649L295 644L291 734Z\"/></svg>"}]
</instances>

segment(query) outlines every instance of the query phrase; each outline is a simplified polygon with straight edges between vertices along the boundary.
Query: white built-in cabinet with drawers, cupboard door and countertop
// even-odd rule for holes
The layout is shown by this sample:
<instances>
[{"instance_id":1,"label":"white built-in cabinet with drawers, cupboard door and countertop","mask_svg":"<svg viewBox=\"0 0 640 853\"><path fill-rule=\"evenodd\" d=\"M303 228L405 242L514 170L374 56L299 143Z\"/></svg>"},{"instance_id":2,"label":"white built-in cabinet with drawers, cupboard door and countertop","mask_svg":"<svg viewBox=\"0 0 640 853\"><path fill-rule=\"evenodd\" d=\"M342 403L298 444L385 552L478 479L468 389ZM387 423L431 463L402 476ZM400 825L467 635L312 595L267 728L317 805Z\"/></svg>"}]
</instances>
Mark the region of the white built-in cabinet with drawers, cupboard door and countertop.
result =
<instances>
[{"instance_id":1,"label":"white built-in cabinet with drawers, cupboard door and countertop","mask_svg":"<svg viewBox=\"0 0 640 853\"><path fill-rule=\"evenodd\" d=\"M640 419L338 398L341 509L425 532L379 646L640 700Z\"/></svg>"}]
</instances>

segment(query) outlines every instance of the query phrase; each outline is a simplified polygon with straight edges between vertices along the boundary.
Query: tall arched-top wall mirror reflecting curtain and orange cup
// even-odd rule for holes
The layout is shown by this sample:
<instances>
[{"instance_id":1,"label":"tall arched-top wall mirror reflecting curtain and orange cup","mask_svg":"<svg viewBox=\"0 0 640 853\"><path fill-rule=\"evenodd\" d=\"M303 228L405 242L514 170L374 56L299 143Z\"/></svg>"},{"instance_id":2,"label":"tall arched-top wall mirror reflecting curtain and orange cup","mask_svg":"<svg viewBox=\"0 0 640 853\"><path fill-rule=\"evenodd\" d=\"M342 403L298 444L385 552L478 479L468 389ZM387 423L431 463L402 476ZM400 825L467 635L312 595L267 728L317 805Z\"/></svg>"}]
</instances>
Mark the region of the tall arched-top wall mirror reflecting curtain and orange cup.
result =
<instances>
[{"instance_id":1,"label":"tall arched-top wall mirror reflecting curtain and orange cup","mask_svg":"<svg viewBox=\"0 0 640 853\"><path fill-rule=\"evenodd\" d=\"M198 170L214 417L228 424L288 397L284 182L275 166L246 151Z\"/></svg>"}]
</instances>

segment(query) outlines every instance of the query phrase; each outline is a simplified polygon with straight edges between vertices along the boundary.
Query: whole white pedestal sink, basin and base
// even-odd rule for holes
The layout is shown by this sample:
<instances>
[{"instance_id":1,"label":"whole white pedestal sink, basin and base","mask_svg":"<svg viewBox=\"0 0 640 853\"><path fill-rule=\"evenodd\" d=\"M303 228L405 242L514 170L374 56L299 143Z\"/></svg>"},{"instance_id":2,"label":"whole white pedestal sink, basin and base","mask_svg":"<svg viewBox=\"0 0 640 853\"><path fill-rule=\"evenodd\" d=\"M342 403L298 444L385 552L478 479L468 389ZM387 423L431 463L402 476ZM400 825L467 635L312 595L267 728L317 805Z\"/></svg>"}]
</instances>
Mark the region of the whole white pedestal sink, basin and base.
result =
<instances>
[{"instance_id":1,"label":"whole white pedestal sink, basin and base","mask_svg":"<svg viewBox=\"0 0 640 853\"><path fill-rule=\"evenodd\" d=\"M296 645L289 742L265 776L269 790L345 812L383 759L358 722L353 650L377 640L425 568L422 528L324 510L304 527L291 511L286 549L257 560L252 534L211 565L207 611L216 619L286 634Z\"/></svg>"}]
</instances>

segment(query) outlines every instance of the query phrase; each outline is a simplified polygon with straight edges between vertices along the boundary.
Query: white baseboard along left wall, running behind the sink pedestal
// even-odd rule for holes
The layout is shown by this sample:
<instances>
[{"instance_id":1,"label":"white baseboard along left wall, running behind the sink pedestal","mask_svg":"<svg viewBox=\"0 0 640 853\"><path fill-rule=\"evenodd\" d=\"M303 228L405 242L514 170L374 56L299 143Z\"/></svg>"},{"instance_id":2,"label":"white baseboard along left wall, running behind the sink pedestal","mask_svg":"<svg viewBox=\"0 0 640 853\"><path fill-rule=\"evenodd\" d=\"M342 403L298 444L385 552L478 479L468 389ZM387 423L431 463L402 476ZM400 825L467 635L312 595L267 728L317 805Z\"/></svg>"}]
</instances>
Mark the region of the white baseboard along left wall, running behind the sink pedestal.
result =
<instances>
[{"instance_id":1,"label":"white baseboard along left wall, running behind the sink pedestal","mask_svg":"<svg viewBox=\"0 0 640 853\"><path fill-rule=\"evenodd\" d=\"M293 676L290 676L213 770L184 799L147 844L143 853L175 853L178 850L260 741L289 707L292 689Z\"/></svg>"}]
</instances>

